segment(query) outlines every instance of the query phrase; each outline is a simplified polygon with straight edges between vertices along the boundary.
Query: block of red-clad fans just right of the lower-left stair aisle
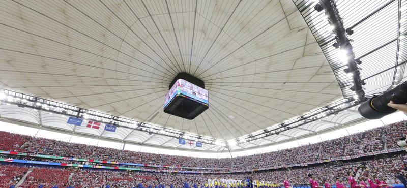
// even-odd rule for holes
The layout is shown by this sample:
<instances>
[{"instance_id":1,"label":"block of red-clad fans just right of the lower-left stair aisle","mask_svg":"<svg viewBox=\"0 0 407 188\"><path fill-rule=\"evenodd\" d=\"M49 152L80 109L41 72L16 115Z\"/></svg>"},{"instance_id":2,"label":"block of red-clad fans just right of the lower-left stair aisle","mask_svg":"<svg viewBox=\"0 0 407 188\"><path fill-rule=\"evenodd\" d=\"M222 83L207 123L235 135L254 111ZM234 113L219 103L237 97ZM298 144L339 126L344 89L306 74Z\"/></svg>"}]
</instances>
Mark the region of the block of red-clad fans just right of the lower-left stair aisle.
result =
<instances>
[{"instance_id":1,"label":"block of red-clad fans just right of the lower-left stair aisle","mask_svg":"<svg viewBox=\"0 0 407 188\"><path fill-rule=\"evenodd\" d=\"M35 168L28 174L25 181L20 185L22 188L34 188L39 185L44 187L64 187L68 183L70 170Z\"/></svg>"}]
</instances>

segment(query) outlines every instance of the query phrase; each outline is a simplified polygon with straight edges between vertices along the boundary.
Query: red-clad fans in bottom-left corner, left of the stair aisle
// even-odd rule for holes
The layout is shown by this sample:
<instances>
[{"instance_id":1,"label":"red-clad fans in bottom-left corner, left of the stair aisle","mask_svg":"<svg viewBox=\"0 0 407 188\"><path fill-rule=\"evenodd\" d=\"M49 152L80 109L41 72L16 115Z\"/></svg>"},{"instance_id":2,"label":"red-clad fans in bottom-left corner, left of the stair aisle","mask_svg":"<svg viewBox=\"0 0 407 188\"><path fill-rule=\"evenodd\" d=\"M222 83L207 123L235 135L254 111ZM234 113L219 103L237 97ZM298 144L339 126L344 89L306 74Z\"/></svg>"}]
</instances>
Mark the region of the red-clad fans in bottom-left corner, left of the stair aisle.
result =
<instances>
[{"instance_id":1,"label":"red-clad fans in bottom-left corner, left of the stair aisle","mask_svg":"<svg viewBox=\"0 0 407 188\"><path fill-rule=\"evenodd\" d=\"M17 183L28 171L28 167L0 165L0 185L11 186Z\"/></svg>"}]
</instances>

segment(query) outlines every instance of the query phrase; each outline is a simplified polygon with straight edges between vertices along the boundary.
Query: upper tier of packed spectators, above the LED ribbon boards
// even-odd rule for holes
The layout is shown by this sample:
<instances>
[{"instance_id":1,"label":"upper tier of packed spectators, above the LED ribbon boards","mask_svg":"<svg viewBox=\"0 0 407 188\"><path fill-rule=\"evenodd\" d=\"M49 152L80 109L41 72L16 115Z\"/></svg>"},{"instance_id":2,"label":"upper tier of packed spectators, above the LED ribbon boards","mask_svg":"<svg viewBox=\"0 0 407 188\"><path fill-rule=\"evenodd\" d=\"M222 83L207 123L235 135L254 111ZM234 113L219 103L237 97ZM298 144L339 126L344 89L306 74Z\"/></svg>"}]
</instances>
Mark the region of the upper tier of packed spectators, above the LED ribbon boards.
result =
<instances>
[{"instance_id":1,"label":"upper tier of packed spectators, above the LED ribbon boards","mask_svg":"<svg viewBox=\"0 0 407 188\"><path fill-rule=\"evenodd\" d=\"M396 148L397 145L395 143L398 138L403 134L405 135L406 132L406 121L401 121L365 132L324 141L323 144L305 144L299 147L249 156L239 156L232 159L192 158L187 156L119 150L1 131L0 136L3 136L4 139L0 140L0 150L149 165L231 168L234 171L239 171L301 164L339 156Z\"/></svg>"}]
</instances>

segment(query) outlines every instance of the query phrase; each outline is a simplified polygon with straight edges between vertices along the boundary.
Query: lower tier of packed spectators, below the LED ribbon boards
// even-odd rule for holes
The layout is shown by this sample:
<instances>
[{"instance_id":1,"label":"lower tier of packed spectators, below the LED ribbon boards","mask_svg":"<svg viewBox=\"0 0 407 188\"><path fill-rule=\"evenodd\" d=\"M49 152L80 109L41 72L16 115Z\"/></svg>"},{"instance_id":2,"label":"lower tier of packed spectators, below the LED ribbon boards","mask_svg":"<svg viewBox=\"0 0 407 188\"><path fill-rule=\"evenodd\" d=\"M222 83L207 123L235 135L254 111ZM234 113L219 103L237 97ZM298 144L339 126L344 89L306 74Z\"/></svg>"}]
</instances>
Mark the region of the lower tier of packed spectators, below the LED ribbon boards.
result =
<instances>
[{"instance_id":1,"label":"lower tier of packed spectators, below the LED ribbon boards","mask_svg":"<svg viewBox=\"0 0 407 188\"><path fill-rule=\"evenodd\" d=\"M357 162L337 163L331 162L325 165L316 165L313 167L282 168L272 171L255 171L255 173L234 173L234 174L182 174L182 173L152 173L135 172L104 169L52 169L52 168L34 168L27 175L25 181L20 185L24 188L37 188L39 185L44 187L110 187L128 188L136 187L139 183L144 187L158 184L170 187L181 188L185 182L191 187L194 183L198 187L205 186L208 179L234 179L244 180L250 178L253 180L271 182L273 185L282 184L285 177L292 185L309 184L308 174L314 174L314 179L322 185L323 179L326 179L331 185L335 183L336 178L346 182L346 172L351 171L359 177L360 180L366 180L368 175L376 175L378 179L394 180L396 172L405 173L407 163L406 154L395 154L389 158L360 160ZM19 167L12 165L0 165L0 183L2 185L13 185L18 182L28 171L28 167ZM71 176L71 178L70 178ZM69 181L70 180L70 181Z\"/></svg>"}]
</instances>

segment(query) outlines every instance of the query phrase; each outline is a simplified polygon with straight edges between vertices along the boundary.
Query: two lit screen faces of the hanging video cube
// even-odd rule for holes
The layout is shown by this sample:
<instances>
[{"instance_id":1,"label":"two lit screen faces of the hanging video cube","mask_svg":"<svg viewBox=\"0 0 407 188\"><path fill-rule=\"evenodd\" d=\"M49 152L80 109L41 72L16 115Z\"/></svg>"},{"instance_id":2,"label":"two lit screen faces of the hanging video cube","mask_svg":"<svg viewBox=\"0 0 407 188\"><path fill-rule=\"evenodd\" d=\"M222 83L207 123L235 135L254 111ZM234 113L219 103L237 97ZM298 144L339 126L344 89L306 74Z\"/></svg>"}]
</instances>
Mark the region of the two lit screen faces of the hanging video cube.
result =
<instances>
[{"instance_id":1,"label":"two lit screen faces of the hanging video cube","mask_svg":"<svg viewBox=\"0 0 407 188\"><path fill-rule=\"evenodd\" d=\"M208 90L198 87L186 80L179 79L167 92L167 95L165 96L164 108L177 95L184 95L208 105Z\"/></svg>"}]
</instances>

